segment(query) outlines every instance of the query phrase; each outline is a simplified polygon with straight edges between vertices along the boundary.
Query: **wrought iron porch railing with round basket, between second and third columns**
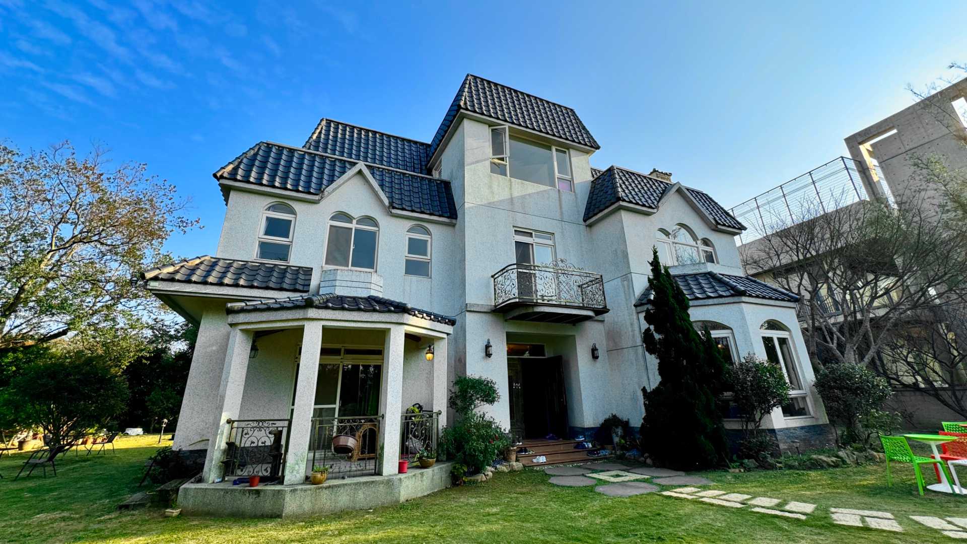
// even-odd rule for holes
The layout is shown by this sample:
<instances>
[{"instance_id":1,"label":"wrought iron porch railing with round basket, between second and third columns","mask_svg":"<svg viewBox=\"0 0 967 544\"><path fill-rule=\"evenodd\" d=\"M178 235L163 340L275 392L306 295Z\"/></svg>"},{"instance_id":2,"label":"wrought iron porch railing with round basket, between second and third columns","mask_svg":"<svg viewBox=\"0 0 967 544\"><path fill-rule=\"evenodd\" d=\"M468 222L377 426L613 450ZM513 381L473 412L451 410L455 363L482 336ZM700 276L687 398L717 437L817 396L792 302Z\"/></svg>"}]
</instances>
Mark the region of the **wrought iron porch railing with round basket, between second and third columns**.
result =
<instances>
[{"instance_id":1,"label":"wrought iron porch railing with round basket, between second and third columns","mask_svg":"<svg viewBox=\"0 0 967 544\"><path fill-rule=\"evenodd\" d=\"M382 415L313 417L308 468L329 467L330 478L375 475L382 421Z\"/></svg>"}]
</instances>

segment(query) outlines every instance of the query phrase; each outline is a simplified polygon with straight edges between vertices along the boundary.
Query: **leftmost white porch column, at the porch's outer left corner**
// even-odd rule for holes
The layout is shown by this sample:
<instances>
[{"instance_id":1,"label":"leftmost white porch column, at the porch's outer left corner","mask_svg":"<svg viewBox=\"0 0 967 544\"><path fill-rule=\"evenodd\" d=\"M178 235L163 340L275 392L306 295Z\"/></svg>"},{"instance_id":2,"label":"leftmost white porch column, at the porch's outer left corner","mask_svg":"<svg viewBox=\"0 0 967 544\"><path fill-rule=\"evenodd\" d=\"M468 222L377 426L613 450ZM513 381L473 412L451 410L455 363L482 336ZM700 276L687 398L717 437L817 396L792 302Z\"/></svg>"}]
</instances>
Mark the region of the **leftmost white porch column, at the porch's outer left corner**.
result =
<instances>
[{"instance_id":1,"label":"leftmost white porch column, at the porch's outer left corner","mask_svg":"<svg viewBox=\"0 0 967 544\"><path fill-rule=\"evenodd\" d=\"M225 364L221 368L221 383L219 386L219 420L216 423L215 437L208 442L208 452L205 454L205 468L202 478L207 483L214 483L224 474L221 458L224 457L225 440L231 426L225 423L227 419L237 419L239 409L242 408L242 392L245 389L245 376L249 370L249 349L251 348L252 332L233 328L228 336L228 348L225 350Z\"/></svg>"}]
</instances>

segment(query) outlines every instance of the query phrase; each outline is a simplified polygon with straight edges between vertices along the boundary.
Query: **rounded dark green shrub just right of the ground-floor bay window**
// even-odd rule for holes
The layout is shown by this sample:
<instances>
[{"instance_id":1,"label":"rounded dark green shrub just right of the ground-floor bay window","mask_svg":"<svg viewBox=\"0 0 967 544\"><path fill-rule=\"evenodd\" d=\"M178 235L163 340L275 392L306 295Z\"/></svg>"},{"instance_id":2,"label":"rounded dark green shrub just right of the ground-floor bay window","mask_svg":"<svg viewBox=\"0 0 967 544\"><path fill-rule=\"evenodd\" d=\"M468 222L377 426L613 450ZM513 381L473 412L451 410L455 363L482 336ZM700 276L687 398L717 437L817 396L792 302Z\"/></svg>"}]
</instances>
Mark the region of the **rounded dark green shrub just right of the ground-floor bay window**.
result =
<instances>
[{"instance_id":1,"label":"rounded dark green shrub just right of the ground-floor bay window","mask_svg":"<svg viewBox=\"0 0 967 544\"><path fill-rule=\"evenodd\" d=\"M874 412L893 395L886 379L852 363L824 366L816 374L816 390L823 398L826 413L845 428L843 441L846 443L866 441L862 434L861 421L878 416Z\"/></svg>"}]
</instances>

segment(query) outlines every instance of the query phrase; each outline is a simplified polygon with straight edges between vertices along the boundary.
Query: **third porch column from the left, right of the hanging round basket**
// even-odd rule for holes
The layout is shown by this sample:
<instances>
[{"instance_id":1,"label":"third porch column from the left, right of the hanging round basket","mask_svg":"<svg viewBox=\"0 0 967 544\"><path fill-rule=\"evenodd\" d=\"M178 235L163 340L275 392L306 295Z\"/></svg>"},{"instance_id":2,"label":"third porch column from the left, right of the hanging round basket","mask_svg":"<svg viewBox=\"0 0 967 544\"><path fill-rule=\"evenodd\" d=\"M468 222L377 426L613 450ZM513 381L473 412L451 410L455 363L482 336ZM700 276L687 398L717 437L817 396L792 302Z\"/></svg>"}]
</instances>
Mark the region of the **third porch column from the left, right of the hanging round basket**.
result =
<instances>
[{"instance_id":1,"label":"third porch column from the left, right of the hanging round basket","mask_svg":"<svg viewBox=\"0 0 967 544\"><path fill-rule=\"evenodd\" d=\"M386 331L383 348L383 380L379 392L379 412L383 421L379 425L379 473L396 474L399 471L399 420L403 414L403 325L392 325Z\"/></svg>"}]
</instances>

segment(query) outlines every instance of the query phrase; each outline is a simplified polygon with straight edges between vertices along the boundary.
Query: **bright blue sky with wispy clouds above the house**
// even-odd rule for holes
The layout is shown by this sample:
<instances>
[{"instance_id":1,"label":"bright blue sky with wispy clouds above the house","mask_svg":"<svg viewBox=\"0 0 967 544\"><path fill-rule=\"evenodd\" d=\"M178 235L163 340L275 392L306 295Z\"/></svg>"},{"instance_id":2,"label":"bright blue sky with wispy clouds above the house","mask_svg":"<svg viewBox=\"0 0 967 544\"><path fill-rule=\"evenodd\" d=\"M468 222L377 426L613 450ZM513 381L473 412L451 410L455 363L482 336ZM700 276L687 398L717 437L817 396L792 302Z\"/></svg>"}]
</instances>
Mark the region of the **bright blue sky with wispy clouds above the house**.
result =
<instances>
[{"instance_id":1,"label":"bright blue sky with wispy clouds above the house","mask_svg":"<svg viewBox=\"0 0 967 544\"><path fill-rule=\"evenodd\" d=\"M669 5L674 4L674 5ZM211 173L320 117L428 140L466 73L574 107L595 166L674 173L732 206L967 61L960 2L608 4L0 0L0 139L147 163L204 228Z\"/></svg>"}]
</instances>

